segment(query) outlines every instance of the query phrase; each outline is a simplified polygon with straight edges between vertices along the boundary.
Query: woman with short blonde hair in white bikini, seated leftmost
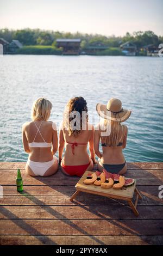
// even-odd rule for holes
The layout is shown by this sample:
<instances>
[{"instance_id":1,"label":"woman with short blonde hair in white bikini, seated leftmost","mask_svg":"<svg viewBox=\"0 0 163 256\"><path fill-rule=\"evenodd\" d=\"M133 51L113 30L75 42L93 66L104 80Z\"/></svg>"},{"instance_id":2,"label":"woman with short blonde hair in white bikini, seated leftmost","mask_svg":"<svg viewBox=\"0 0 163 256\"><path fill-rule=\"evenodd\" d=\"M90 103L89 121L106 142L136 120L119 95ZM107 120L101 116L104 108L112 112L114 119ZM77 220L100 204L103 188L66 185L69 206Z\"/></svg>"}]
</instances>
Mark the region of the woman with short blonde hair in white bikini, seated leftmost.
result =
<instances>
[{"instance_id":1,"label":"woman with short blonde hair in white bikini, seated leftmost","mask_svg":"<svg viewBox=\"0 0 163 256\"><path fill-rule=\"evenodd\" d=\"M51 109L52 103L40 97L33 104L33 121L22 126L23 147L29 154L26 172L32 176L49 176L58 170L54 156L58 148L57 126L48 121Z\"/></svg>"}]
</instances>

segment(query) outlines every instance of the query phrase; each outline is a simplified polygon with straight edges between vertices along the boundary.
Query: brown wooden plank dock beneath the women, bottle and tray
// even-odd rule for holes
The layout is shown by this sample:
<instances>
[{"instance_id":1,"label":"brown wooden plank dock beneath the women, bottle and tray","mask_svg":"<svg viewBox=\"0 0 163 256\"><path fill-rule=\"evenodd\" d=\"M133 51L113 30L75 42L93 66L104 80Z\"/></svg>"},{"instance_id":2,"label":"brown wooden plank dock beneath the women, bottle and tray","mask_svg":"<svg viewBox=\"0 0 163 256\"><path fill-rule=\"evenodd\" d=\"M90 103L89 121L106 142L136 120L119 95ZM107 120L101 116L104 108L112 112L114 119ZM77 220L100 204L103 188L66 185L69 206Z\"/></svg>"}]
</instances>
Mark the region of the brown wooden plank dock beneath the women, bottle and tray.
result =
<instances>
[{"instance_id":1,"label":"brown wooden plank dock beneath the women, bottle and tray","mask_svg":"<svg viewBox=\"0 0 163 256\"><path fill-rule=\"evenodd\" d=\"M142 194L136 217L127 203L80 192L70 197L79 178L47 178L25 173L25 163L0 162L1 245L163 245L163 162L128 163ZM24 191L16 190L21 168ZM163 192L162 192L163 195Z\"/></svg>"}]
</instances>

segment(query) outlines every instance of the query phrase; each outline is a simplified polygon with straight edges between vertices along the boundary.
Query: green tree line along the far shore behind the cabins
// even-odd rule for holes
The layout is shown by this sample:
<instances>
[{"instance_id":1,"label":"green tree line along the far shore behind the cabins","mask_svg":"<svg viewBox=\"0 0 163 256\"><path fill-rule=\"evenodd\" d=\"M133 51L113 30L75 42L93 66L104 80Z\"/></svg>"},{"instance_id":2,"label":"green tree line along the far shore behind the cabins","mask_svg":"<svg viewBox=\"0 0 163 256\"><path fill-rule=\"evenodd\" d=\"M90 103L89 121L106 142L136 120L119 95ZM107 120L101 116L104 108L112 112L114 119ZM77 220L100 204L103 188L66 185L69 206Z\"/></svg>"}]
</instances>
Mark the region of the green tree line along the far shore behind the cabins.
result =
<instances>
[{"instance_id":1,"label":"green tree line along the far shore behind the cabins","mask_svg":"<svg viewBox=\"0 0 163 256\"><path fill-rule=\"evenodd\" d=\"M138 31L130 34L126 33L124 36L105 36L101 34L83 34L83 33L70 33L59 31L42 31L41 29L17 29L11 30L8 28L0 29L0 38L4 38L7 41L12 39L19 40L24 46L56 46L56 39L58 38L80 38L82 40L81 47L85 48L93 42L102 42L108 47L119 47L121 44L127 41L133 42L137 48L141 48L145 45L154 44L158 46L163 43L163 36L156 35L152 31Z\"/></svg>"}]
</instances>

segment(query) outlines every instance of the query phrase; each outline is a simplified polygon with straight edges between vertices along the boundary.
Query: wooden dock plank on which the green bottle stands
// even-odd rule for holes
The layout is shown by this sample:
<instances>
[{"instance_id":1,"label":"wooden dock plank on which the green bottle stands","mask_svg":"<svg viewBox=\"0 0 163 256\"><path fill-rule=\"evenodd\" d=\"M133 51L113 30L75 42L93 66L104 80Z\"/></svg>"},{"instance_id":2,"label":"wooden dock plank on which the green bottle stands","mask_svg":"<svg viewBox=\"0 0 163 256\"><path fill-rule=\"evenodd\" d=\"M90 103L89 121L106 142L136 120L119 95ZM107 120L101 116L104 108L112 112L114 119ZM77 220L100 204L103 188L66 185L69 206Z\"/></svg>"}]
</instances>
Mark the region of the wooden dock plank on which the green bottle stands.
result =
<instances>
[{"instance_id":1,"label":"wooden dock plank on which the green bottle stands","mask_svg":"<svg viewBox=\"0 0 163 256\"><path fill-rule=\"evenodd\" d=\"M138 188L142 194L142 199L137 203L138 206L163 205L163 200L158 197L158 186L139 186ZM74 203L82 205L117 205L117 202L126 204L121 200L116 201L84 192L80 192L75 201L70 202L70 197L76 191L74 187L70 186L55 186L53 188L42 186L40 193L39 189L39 186L25 186L24 194L18 194L16 186L6 186L4 192L9 194L9 196L3 196L0 199L0 205L73 205Z\"/></svg>"}]
</instances>

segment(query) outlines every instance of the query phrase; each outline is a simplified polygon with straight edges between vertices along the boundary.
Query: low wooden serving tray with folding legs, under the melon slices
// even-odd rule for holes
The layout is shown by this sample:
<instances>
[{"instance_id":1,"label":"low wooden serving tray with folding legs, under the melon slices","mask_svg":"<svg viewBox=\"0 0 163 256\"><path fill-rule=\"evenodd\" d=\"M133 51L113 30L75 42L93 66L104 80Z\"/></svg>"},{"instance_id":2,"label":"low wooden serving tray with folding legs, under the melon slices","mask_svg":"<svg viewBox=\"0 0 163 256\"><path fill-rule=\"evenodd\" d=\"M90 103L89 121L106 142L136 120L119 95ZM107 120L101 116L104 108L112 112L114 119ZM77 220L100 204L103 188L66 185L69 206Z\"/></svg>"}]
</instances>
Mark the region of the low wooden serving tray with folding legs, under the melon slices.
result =
<instances>
[{"instance_id":1,"label":"low wooden serving tray with folding legs, under the melon slices","mask_svg":"<svg viewBox=\"0 0 163 256\"><path fill-rule=\"evenodd\" d=\"M124 186L120 190L115 190L114 188L102 188L101 186L96 186L94 184L85 185L83 183L83 181L86 179L86 176L87 176L88 173L93 173L93 172L90 172L89 170L85 171L82 178L80 178L80 180L76 184L77 191L70 198L70 201L72 201L80 191L86 192L86 193L91 193L91 194L97 194L99 196L126 200L126 201L128 201L128 203L129 203L131 209L133 210L134 214L136 216L139 215L139 212L137 211L136 206L137 206L138 199L141 199L142 197L141 197L140 192L136 188L136 179L135 179L135 182L134 182L133 185ZM132 202L134 192L136 193L135 204ZM95 200L96 200L96 197L95 197Z\"/></svg>"}]
</instances>

